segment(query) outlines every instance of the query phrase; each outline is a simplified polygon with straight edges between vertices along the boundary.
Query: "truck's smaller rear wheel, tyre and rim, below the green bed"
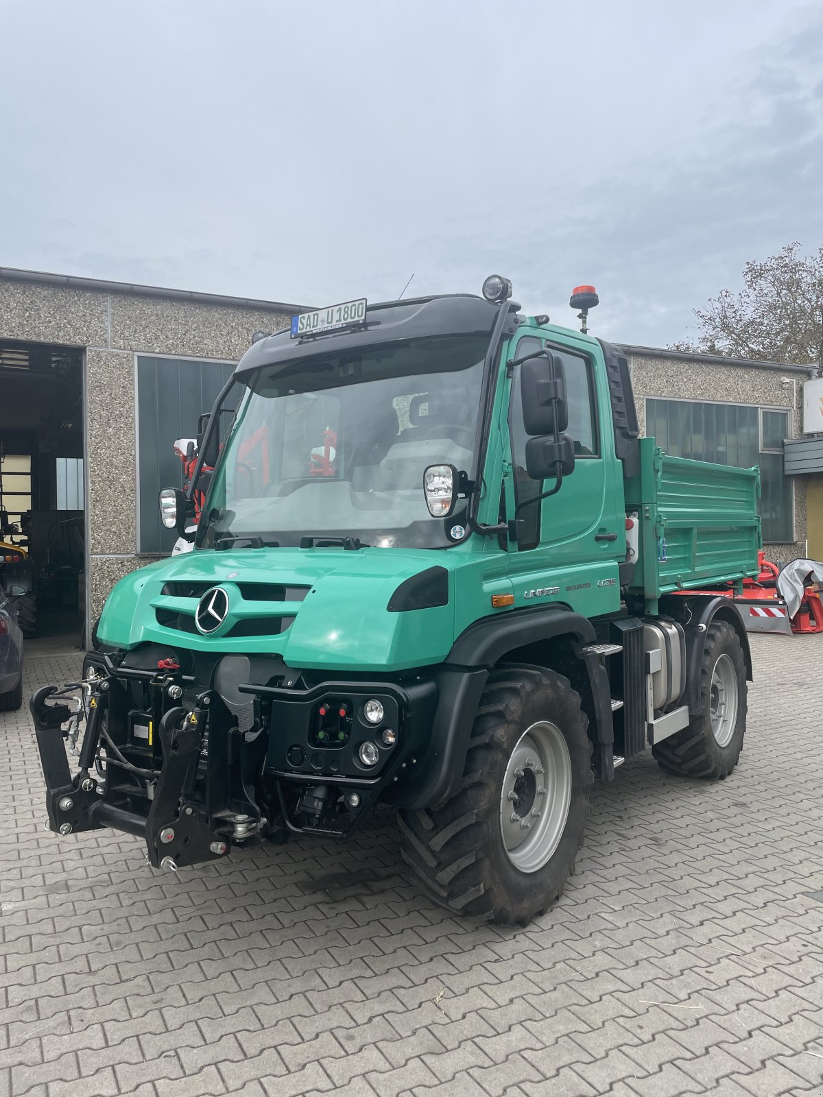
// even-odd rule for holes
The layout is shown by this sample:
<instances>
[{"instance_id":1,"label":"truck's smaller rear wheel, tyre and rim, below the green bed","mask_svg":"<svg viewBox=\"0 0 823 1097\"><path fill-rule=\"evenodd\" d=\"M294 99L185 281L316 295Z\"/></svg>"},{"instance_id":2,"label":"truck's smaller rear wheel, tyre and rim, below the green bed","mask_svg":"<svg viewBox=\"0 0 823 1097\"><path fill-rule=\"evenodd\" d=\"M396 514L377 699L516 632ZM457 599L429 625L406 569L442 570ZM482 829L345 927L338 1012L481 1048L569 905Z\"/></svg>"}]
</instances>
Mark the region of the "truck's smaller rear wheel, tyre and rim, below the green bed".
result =
<instances>
[{"instance_id":1,"label":"truck's smaller rear wheel, tyre and rim, below the green bed","mask_svg":"<svg viewBox=\"0 0 823 1097\"><path fill-rule=\"evenodd\" d=\"M734 627L714 621L700 663L700 715L652 747L661 769L681 777L722 781L740 759L746 732L746 664Z\"/></svg>"}]
</instances>

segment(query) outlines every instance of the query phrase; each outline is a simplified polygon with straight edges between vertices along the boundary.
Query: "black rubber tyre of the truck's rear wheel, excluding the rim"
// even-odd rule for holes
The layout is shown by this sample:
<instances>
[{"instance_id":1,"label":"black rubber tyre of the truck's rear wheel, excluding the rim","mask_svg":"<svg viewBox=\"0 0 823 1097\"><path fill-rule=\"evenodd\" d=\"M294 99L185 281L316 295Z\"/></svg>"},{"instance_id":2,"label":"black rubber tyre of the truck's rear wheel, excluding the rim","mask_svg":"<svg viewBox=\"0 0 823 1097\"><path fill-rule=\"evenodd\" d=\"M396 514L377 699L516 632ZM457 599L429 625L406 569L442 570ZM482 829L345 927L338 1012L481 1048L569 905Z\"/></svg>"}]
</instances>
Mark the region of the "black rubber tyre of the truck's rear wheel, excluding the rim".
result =
<instances>
[{"instance_id":1,"label":"black rubber tyre of the truck's rear wheel, excluding the rim","mask_svg":"<svg viewBox=\"0 0 823 1097\"><path fill-rule=\"evenodd\" d=\"M737 765L746 727L746 672L743 652L734 627L728 621L713 621L706 633L703 655L700 661L701 697L703 697L707 680L709 683L711 682L711 674L718 655L722 654L723 651L732 657L737 670L739 683L741 679L743 681L743 688L739 689L737 693L737 725L740 727L742 723L743 731L740 734L735 731L732 742L724 749L714 739L706 712L701 712L699 716L692 716L688 727L652 747L652 754L657 765L668 773L702 778L708 781L722 781Z\"/></svg>"}]
</instances>

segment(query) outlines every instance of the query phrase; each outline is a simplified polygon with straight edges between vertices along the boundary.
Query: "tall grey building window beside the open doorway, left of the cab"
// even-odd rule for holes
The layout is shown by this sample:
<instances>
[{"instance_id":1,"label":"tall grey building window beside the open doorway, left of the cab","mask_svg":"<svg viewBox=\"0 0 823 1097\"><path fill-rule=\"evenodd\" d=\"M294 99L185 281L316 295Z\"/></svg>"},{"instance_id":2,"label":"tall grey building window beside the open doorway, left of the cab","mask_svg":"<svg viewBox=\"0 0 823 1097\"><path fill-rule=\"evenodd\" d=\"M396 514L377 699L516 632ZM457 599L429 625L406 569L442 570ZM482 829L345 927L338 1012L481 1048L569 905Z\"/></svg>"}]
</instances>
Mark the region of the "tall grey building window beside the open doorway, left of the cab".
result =
<instances>
[{"instance_id":1,"label":"tall grey building window beside the open doorway, left of the cab","mask_svg":"<svg viewBox=\"0 0 823 1097\"><path fill-rule=\"evenodd\" d=\"M138 354L137 386L137 551L162 555L177 540L160 521L157 496L165 487L181 487L180 459L173 445L194 438L198 419L211 411L234 365L202 359Z\"/></svg>"}]
</instances>

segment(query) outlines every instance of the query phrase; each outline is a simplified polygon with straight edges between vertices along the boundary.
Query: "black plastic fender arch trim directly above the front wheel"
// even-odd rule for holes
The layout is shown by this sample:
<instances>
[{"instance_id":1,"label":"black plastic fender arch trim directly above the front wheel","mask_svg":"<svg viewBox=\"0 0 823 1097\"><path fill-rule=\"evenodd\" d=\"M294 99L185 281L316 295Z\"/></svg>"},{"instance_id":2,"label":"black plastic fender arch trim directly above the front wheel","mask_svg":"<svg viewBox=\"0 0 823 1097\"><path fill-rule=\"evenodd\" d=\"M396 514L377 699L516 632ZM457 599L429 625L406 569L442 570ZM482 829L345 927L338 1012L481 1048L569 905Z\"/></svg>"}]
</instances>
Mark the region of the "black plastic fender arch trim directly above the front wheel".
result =
<instances>
[{"instance_id":1,"label":"black plastic fender arch trim directly above the front wheel","mask_svg":"<svg viewBox=\"0 0 823 1097\"><path fill-rule=\"evenodd\" d=\"M447 666L493 667L516 647L570 633L580 644L597 640L588 618L561 606L509 610L482 618L458 636L446 658Z\"/></svg>"}]
</instances>

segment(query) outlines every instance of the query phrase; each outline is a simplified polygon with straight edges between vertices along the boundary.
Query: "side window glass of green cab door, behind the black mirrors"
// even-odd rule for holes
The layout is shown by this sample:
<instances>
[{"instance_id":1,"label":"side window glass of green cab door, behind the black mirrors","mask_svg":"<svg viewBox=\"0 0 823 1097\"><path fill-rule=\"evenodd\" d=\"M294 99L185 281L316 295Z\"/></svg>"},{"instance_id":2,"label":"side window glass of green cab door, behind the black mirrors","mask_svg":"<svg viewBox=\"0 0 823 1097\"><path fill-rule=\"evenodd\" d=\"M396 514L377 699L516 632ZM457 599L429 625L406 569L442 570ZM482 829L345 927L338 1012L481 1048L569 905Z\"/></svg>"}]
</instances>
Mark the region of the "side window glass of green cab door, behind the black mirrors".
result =
<instances>
[{"instance_id":1,"label":"side window glass of green cab door, behind the black mirrors","mask_svg":"<svg viewBox=\"0 0 823 1097\"><path fill-rule=\"evenodd\" d=\"M543 340L531 336L517 344L516 357L523 358L542 349ZM589 362L580 354L550 348L563 360L566 373L566 399L568 402L568 434L574 442L574 452L579 460L599 456L597 415L594 399L594 378ZM530 479L526 473L526 443L529 436L523 428L523 409L520 398L520 366L511 377L511 400L509 404L509 436L511 438L511 464L515 477L515 499L519 506L525 499L533 499L544 490L541 480ZM518 545L521 550L533 548L540 542L540 504L533 504L520 511L522 520Z\"/></svg>"}]
</instances>

